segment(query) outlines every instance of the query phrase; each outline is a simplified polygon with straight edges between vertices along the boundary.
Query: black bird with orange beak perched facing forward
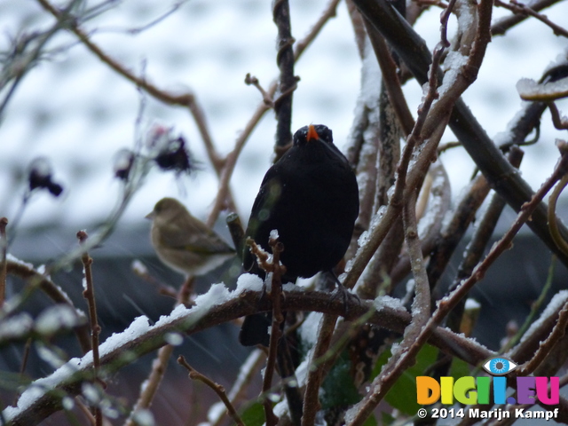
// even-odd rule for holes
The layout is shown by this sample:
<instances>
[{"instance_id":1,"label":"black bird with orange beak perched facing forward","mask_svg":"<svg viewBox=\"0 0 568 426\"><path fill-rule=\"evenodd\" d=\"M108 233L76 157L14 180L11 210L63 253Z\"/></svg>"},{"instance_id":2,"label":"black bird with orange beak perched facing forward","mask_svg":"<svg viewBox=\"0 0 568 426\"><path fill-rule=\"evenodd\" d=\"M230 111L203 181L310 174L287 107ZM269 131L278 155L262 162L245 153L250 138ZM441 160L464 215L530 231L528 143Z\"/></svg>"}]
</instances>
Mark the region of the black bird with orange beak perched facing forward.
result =
<instances>
[{"instance_id":1,"label":"black bird with orange beak perched facing forward","mask_svg":"<svg viewBox=\"0 0 568 426\"><path fill-rule=\"evenodd\" d=\"M322 124L309 125L296 131L294 146L264 175L245 235L268 248L271 231L278 230L284 244L280 261L287 270L283 280L295 281L331 271L341 261L358 215L355 173L334 145L331 130ZM243 267L264 275L248 247ZM248 337L254 334L251 328L262 323L259 315L245 319L241 343L261 343Z\"/></svg>"}]
</instances>

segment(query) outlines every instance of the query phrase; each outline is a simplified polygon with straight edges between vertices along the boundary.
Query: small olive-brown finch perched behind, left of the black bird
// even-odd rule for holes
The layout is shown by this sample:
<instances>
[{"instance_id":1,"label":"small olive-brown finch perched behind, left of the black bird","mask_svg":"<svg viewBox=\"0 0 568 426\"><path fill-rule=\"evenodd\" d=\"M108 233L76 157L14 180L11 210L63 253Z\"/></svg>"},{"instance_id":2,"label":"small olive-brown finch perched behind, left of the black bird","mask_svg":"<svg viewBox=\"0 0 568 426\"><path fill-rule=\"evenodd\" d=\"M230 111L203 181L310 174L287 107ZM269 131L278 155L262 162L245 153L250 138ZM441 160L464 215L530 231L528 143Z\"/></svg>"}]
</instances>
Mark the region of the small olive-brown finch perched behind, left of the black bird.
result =
<instances>
[{"instance_id":1,"label":"small olive-brown finch perched behind, left of the black bird","mask_svg":"<svg viewBox=\"0 0 568 426\"><path fill-rule=\"evenodd\" d=\"M156 254L177 272L204 275L235 255L217 233L173 198L162 198L146 218L152 220L150 239Z\"/></svg>"}]
</instances>

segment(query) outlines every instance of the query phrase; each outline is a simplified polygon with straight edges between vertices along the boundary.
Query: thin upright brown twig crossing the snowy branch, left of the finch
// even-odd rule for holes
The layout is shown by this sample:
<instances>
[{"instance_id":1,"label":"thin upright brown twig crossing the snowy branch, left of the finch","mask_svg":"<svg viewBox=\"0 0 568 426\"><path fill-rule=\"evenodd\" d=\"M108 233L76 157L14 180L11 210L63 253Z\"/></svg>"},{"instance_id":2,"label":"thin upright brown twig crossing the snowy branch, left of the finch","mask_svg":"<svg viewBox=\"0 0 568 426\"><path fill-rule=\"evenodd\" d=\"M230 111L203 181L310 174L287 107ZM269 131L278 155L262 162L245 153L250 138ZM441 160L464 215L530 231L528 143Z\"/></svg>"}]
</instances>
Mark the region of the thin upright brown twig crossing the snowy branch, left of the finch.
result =
<instances>
[{"instance_id":1,"label":"thin upright brown twig crossing the snowy branch, left of the finch","mask_svg":"<svg viewBox=\"0 0 568 426\"><path fill-rule=\"evenodd\" d=\"M79 242L83 244L88 235L84 231L79 231L77 233L77 238ZM83 297L87 299L87 304L89 305L89 319L91 320L91 345L92 345L92 365L93 365L93 376L95 381L102 381L99 379L99 368L100 368L100 359L99 359L99 333L100 333L100 326L97 320L97 303L95 300L95 288L94 282L92 280L92 258L89 256L89 253L83 253L81 256L81 260L83 262L83 269L84 269L84 280L85 280L85 289L83 290ZM103 383L104 384L104 383ZM97 426L102 426L103 418L102 413L100 411L100 407L95 407L95 420Z\"/></svg>"}]
</instances>

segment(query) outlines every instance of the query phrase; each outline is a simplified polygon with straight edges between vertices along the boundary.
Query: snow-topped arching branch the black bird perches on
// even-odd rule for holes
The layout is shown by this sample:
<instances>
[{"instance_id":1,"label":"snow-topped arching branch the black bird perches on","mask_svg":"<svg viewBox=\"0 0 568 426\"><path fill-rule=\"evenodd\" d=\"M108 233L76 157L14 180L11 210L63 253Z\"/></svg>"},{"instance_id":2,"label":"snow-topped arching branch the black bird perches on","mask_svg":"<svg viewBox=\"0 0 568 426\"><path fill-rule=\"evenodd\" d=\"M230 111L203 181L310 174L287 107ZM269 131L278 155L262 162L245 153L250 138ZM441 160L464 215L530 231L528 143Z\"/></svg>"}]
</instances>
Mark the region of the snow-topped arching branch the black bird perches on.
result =
<instances>
[{"instance_id":1,"label":"snow-topped arching branch the black bird perches on","mask_svg":"<svg viewBox=\"0 0 568 426\"><path fill-rule=\"evenodd\" d=\"M530 215L530 211L527 215ZM285 295L286 297L282 299L282 309L284 310L345 315L345 318L351 321L357 321L364 317L366 323L384 327L397 333L402 333L411 319L410 314L405 309L386 304L381 305L380 309L376 309L377 306L374 301L357 301L349 297L343 301L342 298L327 291L291 291L286 292ZM259 310L269 311L270 309L272 309L271 301L262 290L245 291L238 296L230 297L223 303L210 307L206 311L187 310L182 312L175 319L165 321L160 326L150 327L142 335L125 335L112 351L105 354L101 362L105 366L106 373L112 375L120 371L122 367L162 347L166 344L164 336L172 332L194 335L206 328L250 315ZM544 340L544 337L540 340ZM452 333L445 327L435 328L430 335L429 342L442 351L463 359L473 366L495 354L473 340ZM124 353L129 353L129 356L124 357ZM28 394L27 398L29 397L31 400L28 398L26 407L24 409L14 407L12 410L12 422L21 424L39 423L46 416L58 410L59 390L64 391L69 396L80 393L82 384L92 376L92 359L84 359L84 362L79 366L76 362L70 364L69 367L75 368L76 373L65 377L49 376L51 380L50 390L53 391L43 392L41 395L37 395L36 392L36 397L33 398ZM566 406L561 406L561 410L568 413Z\"/></svg>"}]
</instances>

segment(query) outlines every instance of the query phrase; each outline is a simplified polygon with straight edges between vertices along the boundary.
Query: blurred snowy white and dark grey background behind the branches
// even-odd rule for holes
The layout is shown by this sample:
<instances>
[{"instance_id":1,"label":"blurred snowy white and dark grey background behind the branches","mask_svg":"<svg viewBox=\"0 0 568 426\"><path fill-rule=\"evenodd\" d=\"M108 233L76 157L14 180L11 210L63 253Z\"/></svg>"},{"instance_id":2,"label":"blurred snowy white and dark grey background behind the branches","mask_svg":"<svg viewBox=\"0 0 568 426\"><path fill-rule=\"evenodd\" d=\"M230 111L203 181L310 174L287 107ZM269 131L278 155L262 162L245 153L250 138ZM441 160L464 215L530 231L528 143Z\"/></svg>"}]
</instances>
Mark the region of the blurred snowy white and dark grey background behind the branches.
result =
<instances>
[{"instance_id":1,"label":"blurred snowy white and dark grey background behind the branches","mask_svg":"<svg viewBox=\"0 0 568 426\"><path fill-rule=\"evenodd\" d=\"M112 5L108 11L81 24L91 40L157 87L173 93L193 92L203 108L218 153L221 156L229 153L262 102L259 91L244 83L245 75L256 76L265 89L278 76L276 27L270 3L124 0L106 4ZM327 1L323 0L290 1L296 40L309 31L326 5ZM439 39L440 11L431 8L415 25L430 48ZM565 26L568 1L558 2L544 12L549 19ZM494 20L509 14L495 8ZM6 67L16 41L34 31L44 31L54 22L38 2L0 0L2 66ZM454 27L452 20L450 34ZM555 36L538 20L526 20L510 29L507 36L493 38L477 82L463 96L490 136L498 140L521 108L517 81L523 77L538 80L551 63L566 57L567 49L568 39ZM114 155L121 148L132 148L139 135L145 135L155 125L182 135L200 162L199 170L192 176L176 177L153 170L125 210L115 232L101 247L92 250L104 340L128 327L139 315L156 320L172 309L172 299L156 296L156 288L131 271L134 259L142 260L162 282L177 287L183 280L155 258L148 235L150 222L144 219L146 214L162 197L174 196L194 216L205 219L215 200L218 180L195 122L185 109L167 106L141 94L66 31L59 31L50 39L47 51L10 93L0 117L0 217L11 219L18 214L28 185L28 165L38 156L51 160L53 177L63 185L64 192L58 198L48 193L32 197L17 229L13 230L16 238L9 250L12 255L35 265L44 264L74 248L78 230L96 231L116 207L121 193L121 184L114 178ZM350 141L361 80L361 60L344 3L339 4L336 17L329 20L299 60L296 75L300 81L294 95L293 129L309 123L327 124L334 132L335 144L344 151ZM10 90L0 87L2 99L7 98ZM410 81L404 90L415 114L422 88ZM137 122L141 103L145 108ZM558 106L567 114L565 100ZM264 172L272 163L274 130L273 113L269 111L252 132L234 171L231 188L244 224ZM524 148L526 154L520 169L533 189L554 168L556 138L565 139L565 131L554 130L546 112L540 141ZM442 143L454 140L448 129ZM461 147L442 154L441 160L456 201L475 165ZM565 203L561 204L559 214L568 218ZM225 216L226 212L217 221L216 230L230 241ZM513 217L508 209L497 233L507 229ZM12 232L10 225L8 229ZM454 259L454 263L457 261L459 258ZM522 323L540 294L549 263L548 249L525 229L517 237L515 247L493 266L472 295L483 306L475 333L481 343L495 349L511 319ZM234 271L238 271L238 265L236 269L234 266L225 264L224 268L202 277L198 280L198 292L206 291L211 282L224 281L232 287ZM59 272L53 280L85 309L81 276L81 266L75 264L72 271ZM568 275L564 266L556 266L555 277L550 296L558 288L566 288ZM13 294L19 285L12 280L9 291ZM28 303L30 312L40 312L49 305L42 297ZM248 353L236 343L237 330L238 327L230 324L217 327L213 334L202 333L188 339L181 351L191 353L195 367L215 380L225 385L232 383ZM74 343L69 344L73 347ZM4 349L2 355L3 370L19 370L21 348ZM36 375L47 374L49 368L35 357L34 362L30 361L31 371ZM122 384L136 393L151 359L141 359L129 367L138 379ZM179 375L181 370L172 368ZM172 377L175 376L176 373Z\"/></svg>"}]
</instances>

